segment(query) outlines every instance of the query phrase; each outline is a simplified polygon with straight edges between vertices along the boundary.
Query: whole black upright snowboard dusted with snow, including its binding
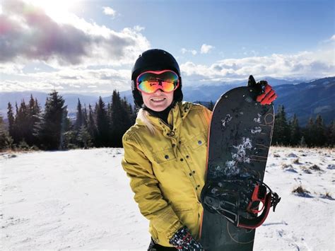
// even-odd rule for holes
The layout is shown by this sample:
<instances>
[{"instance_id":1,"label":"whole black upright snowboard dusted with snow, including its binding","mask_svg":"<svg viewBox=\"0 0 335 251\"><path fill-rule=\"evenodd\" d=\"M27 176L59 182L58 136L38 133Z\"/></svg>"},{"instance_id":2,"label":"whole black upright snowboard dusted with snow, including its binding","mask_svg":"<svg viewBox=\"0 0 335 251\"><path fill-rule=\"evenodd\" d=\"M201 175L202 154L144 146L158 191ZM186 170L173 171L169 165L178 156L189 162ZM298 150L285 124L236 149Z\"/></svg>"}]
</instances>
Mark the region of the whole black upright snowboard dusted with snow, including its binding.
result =
<instances>
[{"instance_id":1,"label":"whole black upright snowboard dusted with snow, including its binding","mask_svg":"<svg viewBox=\"0 0 335 251\"><path fill-rule=\"evenodd\" d=\"M213 110L201 192L201 244L206 251L252 250L254 228L280 200L262 182L274 107L260 105L257 95L257 88L234 88L221 96Z\"/></svg>"}]
</instances>

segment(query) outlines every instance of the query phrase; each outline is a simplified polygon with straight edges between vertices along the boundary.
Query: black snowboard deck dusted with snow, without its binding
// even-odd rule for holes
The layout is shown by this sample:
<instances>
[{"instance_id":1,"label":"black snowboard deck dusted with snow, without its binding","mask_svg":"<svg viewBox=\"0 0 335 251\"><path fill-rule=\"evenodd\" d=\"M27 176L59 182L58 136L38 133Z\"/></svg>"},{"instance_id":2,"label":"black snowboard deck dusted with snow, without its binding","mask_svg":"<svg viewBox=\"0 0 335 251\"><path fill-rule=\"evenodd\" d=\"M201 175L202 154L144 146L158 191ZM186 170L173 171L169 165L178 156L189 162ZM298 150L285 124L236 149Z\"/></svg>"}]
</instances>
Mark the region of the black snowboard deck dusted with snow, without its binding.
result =
<instances>
[{"instance_id":1,"label":"black snowboard deck dusted with snow, without its binding","mask_svg":"<svg viewBox=\"0 0 335 251\"><path fill-rule=\"evenodd\" d=\"M238 177L263 180L274 128L274 107L258 103L257 95L255 88L239 87L221 95L216 102L208 134L205 187L208 182ZM200 230L204 249L252 250L255 230L237 227L207 209L205 195L201 194L204 214Z\"/></svg>"}]
</instances>

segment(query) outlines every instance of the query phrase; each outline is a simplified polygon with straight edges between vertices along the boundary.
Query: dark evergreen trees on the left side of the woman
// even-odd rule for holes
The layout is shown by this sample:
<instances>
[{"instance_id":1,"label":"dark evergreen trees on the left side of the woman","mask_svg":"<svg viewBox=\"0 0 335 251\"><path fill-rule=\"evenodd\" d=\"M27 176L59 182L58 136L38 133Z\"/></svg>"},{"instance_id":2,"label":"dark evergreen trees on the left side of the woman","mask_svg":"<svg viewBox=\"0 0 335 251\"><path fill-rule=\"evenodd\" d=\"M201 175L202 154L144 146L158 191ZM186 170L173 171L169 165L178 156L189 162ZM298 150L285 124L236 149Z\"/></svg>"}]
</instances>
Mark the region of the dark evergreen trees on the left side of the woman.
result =
<instances>
[{"instance_id":1,"label":"dark evergreen trees on the left side of the woman","mask_svg":"<svg viewBox=\"0 0 335 251\"><path fill-rule=\"evenodd\" d=\"M33 95L28 104L24 100L15 107L8 103L8 129L0 116L0 149L122 147L122 136L136 119L133 107L117 91L107 105L101 97L95 107L86 107L78 99L73 120L64 103L57 91L49 93L43 111Z\"/></svg>"}]
</instances>

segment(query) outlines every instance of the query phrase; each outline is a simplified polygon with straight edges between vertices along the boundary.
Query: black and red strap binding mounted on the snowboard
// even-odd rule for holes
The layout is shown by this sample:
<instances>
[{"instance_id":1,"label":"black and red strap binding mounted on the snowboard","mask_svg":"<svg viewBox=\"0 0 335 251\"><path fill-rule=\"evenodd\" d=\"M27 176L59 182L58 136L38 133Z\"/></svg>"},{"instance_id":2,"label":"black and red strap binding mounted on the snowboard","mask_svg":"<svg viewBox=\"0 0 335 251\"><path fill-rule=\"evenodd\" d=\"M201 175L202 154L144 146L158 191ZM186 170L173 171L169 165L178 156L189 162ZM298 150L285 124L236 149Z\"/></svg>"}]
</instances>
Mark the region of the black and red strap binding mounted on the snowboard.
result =
<instances>
[{"instance_id":1,"label":"black and red strap binding mounted on the snowboard","mask_svg":"<svg viewBox=\"0 0 335 251\"><path fill-rule=\"evenodd\" d=\"M270 208L273 207L275 211L280 200L268 185L253 177L230 177L230 180L208 182L201 191L204 209L224 216L241 228L261 226Z\"/></svg>"}]
</instances>

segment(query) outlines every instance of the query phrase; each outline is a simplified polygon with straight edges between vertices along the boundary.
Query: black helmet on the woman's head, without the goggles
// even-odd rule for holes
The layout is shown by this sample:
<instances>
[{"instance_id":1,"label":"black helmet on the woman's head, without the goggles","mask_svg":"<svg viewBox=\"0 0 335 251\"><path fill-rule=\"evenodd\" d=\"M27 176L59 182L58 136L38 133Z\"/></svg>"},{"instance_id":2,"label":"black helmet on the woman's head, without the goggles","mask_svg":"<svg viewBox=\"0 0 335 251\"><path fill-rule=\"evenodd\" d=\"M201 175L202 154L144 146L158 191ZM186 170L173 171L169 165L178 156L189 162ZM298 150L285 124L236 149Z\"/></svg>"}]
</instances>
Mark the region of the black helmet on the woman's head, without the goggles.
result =
<instances>
[{"instance_id":1,"label":"black helmet on the woman's head, without the goggles","mask_svg":"<svg viewBox=\"0 0 335 251\"><path fill-rule=\"evenodd\" d=\"M179 76L179 86L173 93L173 100L175 102L182 101L182 77L180 76L180 68L176 59L163 49L148 49L139 55L133 69L131 70L131 91L134 97L134 103L142 107L143 99L141 93L136 88L136 78L143 71L160 71L171 70Z\"/></svg>"}]
</instances>

